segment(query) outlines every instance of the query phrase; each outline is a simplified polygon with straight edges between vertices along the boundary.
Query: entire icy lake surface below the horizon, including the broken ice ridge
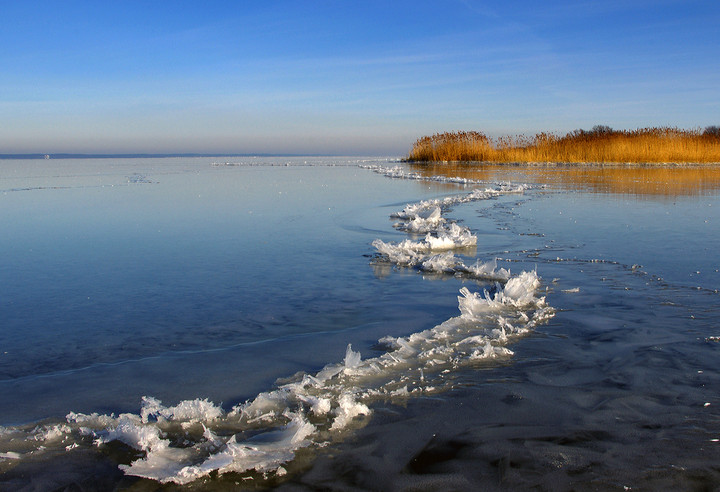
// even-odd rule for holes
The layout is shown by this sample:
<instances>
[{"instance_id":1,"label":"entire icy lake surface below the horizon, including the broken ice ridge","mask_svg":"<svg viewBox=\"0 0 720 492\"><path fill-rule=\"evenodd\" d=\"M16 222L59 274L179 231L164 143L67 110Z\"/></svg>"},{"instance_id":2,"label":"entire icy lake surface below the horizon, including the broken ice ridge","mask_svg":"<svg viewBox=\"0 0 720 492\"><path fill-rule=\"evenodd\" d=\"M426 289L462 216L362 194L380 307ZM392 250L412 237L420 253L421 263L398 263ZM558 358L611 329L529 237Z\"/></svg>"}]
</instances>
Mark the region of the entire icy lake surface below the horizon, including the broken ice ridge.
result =
<instances>
[{"instance_id":1,"label":"entire icy lake surface below the horizon, including the broken ice ridge","mask_svg":"<svg viewBox=\"0 0 720 492\"><path fill-rule=\"evenodd\" d=\"M713 488L720 180L670 171L0 161L0 489ZM447 199L441 261L393 224Z\"/></svg>"}]
</instances>

